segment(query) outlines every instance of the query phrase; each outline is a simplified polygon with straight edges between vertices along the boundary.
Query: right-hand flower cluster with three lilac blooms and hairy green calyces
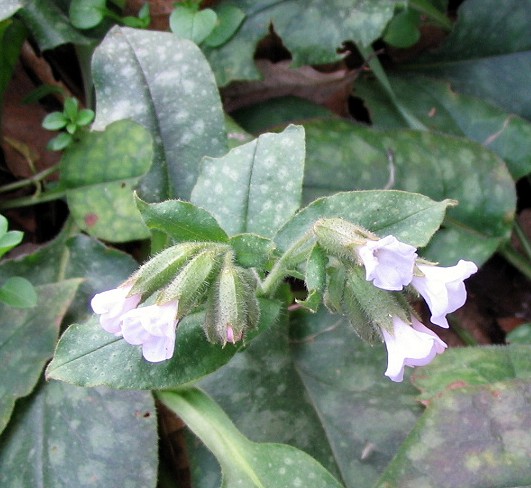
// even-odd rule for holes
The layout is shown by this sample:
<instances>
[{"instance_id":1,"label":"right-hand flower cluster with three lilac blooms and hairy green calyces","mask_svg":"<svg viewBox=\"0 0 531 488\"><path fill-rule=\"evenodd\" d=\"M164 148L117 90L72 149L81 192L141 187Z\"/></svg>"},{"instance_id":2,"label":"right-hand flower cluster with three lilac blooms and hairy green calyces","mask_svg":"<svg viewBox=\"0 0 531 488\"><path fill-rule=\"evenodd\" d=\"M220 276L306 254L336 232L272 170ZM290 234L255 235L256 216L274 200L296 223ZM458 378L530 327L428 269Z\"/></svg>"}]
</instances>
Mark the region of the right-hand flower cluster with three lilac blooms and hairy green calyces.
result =
<instances>
[{"instance_id":1,"label":"right-hand flower cluster with three lilac blooms and hairy green calyces","mask_svg":"<svg viewBox=\"0 0 531 488\"><path fill-rule=\"evenodd\" d=\"M448 268L436 266L420 259L414 246L395 236L378 238L342 219L321 219L314 225L314 233L319 245L345 270L346 277L339 284L329 284L329 308L345 313L361 337L383 337L389 378L402 381L405 366L428 364L444 351L446 344L414 316L396 292L406 287L416 290L428 304L431 322L447 328L446 315L465 303L464 280L477 271L474 263L461 260ZM334 295L332 289L340 294Z\"/></svg>"}]
</instances>

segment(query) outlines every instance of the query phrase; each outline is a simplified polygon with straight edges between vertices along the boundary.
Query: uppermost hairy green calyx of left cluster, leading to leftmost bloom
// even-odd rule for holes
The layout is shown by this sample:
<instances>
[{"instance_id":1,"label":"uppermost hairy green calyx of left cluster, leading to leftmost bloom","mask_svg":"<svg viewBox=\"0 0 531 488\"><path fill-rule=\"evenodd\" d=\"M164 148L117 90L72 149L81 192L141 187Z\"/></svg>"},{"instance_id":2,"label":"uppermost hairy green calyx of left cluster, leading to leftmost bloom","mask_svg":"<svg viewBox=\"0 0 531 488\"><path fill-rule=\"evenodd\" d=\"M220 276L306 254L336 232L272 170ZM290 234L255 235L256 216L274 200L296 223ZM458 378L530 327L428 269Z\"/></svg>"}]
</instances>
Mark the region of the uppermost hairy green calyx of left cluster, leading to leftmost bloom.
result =
<instances>
[{"instance_id":1,"label":"uppermost hairy green calyx of left cluster, leading to leftmost bloom","mask_svg":"<svg viewBox=\"0 0 531 488\"><path fill-rule=\"evenodd\" d=\"M129 295L140 293L150 296L163 288L186 262L209 243L186 242L169 247L151 258L133 274L128 283L132 283Z\"/></svg>"}]
</instances>

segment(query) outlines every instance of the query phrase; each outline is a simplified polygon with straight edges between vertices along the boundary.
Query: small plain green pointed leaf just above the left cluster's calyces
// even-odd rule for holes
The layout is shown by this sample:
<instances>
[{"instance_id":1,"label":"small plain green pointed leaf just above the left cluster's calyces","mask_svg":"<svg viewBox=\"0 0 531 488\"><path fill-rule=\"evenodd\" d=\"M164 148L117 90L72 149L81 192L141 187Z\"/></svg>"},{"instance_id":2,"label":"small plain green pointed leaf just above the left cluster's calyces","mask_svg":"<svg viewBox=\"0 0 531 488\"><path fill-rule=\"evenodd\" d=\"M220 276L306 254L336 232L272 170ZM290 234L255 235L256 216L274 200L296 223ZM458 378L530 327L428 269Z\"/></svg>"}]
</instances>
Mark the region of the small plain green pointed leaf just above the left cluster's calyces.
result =
<instances>
[{"instance_id":1,"label":"small plain green pointed leaf just above the left cluster's calyces","mask_svg":"<svg viewBox=\"0 0 531 488\"><path fill-rule=\"evenodd\" d=\"M225 231L206 210L182 200L146 203L136 199L144 222L151 230L159 230L173 242L213 241L227 242Z\"/></svg>"}]
</instances>

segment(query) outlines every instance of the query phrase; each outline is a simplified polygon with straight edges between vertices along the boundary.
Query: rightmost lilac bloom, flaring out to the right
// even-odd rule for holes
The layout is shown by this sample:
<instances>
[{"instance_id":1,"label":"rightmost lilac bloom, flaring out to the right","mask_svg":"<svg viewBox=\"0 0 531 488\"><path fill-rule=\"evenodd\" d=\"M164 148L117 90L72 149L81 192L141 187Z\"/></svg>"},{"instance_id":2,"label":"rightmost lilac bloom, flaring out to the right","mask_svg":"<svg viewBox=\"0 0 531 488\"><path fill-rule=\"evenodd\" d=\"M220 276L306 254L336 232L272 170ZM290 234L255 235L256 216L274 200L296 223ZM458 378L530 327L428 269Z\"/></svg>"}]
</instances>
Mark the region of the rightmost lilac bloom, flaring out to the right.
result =
<instances>
[{"instance_id":1,"label":"rightmost lilac bloom, flaring out to the right","mask_svg":"<svg viewBox=\"0 0 531 488\"><path fill-rule=\"evenodd\" d=\"M418 264L423 276L414 276L411 284L424 297L431 311L431 321L441 327L448 327L446 314L455 312L466 301L463 280L474 274L478 268L471 261L460 260L450 268L431 264Z\"/></svg>"}]
</instances>

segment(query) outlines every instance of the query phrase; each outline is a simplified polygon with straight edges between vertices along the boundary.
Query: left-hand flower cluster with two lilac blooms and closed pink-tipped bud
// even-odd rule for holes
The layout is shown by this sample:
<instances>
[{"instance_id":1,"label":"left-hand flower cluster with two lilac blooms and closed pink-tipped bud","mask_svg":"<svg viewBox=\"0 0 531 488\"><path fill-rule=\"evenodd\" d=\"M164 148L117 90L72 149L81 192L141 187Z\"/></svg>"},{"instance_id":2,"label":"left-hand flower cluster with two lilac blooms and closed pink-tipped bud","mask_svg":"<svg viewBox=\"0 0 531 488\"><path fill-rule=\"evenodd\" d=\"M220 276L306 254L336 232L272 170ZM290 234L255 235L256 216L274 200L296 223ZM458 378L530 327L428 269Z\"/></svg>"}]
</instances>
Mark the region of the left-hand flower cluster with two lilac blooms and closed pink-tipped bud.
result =
<instances>
[{"instance_id":1,"label":"left-hand flower cluster with two lilac blooms and closed pink-tipped bud","mask_svg":"<svg viewBox=\"0 0 531 488\"><path fill-rule=\"evenodd\" d=\"M104 330L141 346L144 358L156 363L173 356L180 319L202 304L209 341L242 340L259 320L256 285L254 274L235 264L226 244L180 243L154 256L118 288L95 295L91 306ZM155 304L146 304L150 297Z\"/></svg>"}]
</instances>

